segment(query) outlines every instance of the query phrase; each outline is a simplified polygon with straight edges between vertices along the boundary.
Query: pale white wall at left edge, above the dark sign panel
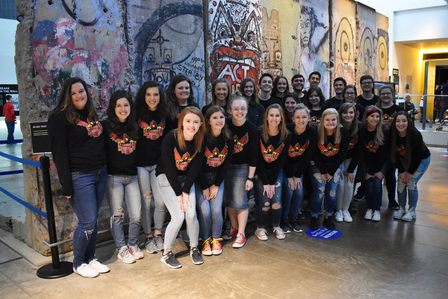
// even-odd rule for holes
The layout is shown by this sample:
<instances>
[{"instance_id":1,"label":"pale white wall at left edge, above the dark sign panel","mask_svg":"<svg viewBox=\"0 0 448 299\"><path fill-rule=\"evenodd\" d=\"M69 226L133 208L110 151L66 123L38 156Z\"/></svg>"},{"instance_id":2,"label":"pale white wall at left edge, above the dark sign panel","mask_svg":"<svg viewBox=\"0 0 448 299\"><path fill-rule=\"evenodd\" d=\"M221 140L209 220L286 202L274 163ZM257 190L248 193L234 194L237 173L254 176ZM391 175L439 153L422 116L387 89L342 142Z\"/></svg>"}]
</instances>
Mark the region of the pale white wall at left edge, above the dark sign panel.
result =
<instances>
[{"instance_id":1,"label":"pale white wall at left edge, above the dark sign panel","mask_svg":"<svg viewBox=\"0 0 448 299\"><path fill-rule=\"evenodd\" d=\"M17 84L15 76L15 29L18 22L0 18L0 84Z\"/></svg>"}]
</instances>

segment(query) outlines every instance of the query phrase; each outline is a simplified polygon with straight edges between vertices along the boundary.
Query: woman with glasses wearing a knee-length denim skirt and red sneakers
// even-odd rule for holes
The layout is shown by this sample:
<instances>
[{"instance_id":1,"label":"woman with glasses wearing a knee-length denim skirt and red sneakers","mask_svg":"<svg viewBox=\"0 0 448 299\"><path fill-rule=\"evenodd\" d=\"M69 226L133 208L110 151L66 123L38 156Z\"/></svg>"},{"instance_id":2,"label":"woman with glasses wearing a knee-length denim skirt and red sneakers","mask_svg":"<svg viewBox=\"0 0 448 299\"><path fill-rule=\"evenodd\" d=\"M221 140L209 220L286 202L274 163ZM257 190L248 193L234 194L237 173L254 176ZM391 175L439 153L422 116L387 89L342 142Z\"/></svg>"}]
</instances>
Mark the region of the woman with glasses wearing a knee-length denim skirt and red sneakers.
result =
<instances>
[{"instance_id":1,"label":"woman with glasses wearing a knee-length denim skirt and red sneakers","mask_svg":"<svg viewBox=\"0 0 448 299\"><path fill-rule=\"evenodd\" d=\"M247 101L239 92L230 97L231 118L227 126L233 136L233 156L224 179L224 206L227 207L231 228L224 231L223 239L236 236L233 248L246 243L245 229L249 215L249 199L246 191L253 187L252 179L258 159L258 133L246 120Z\"/></svg>"}]
</instances>

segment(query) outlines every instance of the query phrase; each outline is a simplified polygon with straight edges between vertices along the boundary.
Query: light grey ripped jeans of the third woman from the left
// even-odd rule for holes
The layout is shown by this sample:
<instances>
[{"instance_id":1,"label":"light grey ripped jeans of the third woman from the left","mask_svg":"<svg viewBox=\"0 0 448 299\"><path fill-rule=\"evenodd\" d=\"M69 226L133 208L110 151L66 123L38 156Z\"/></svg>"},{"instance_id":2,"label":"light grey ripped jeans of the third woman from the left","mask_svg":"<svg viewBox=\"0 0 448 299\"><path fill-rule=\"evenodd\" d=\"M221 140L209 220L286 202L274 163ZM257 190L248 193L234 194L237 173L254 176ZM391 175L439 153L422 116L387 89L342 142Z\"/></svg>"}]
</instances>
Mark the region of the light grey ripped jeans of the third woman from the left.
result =
<instances>
[{"instance_id":1,"label":"light grey ripped jeans of the third woman from the left","mask_svg":"<svg viewBox=\"0 0 448 299\"><path fill-rule=\"evenodd\" d=\"M161 231L165 222L166 207L157 184L157 165L137 167L138 185L141 196L141 226L146 235L151 235L151 203L154 200L154 229ZM150 196L146 194L151 193Z\"/></svg>"}]
</instances>

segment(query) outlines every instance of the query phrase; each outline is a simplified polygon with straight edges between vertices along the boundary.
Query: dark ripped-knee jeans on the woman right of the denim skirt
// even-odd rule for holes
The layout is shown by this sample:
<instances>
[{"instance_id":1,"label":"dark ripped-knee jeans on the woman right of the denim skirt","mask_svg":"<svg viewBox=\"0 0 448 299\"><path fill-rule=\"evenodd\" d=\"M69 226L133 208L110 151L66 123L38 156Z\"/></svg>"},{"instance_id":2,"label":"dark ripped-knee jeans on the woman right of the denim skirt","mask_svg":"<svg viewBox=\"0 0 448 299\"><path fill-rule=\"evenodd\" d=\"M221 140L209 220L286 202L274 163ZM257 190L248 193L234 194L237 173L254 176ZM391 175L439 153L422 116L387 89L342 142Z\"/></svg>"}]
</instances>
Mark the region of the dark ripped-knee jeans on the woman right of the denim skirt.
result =
<instances>
[{"instance_id":1,"label":"dark ripped-knee jeans on the woman right of the denim skirt","mask_svg":"<svg viewBox=\"0 0 448 299\"><path fill-rule=\"evenodd\" d=\"M253 187L259 200L259 208L256 215L257 226L259 228L268 227L271 220L273 227L280 226L280 219L282 217L282 182L283 170L280 170L275 180L274 196L269 198L266 193L263 195L263 182L258 176L255 176ZM276 206L274 207L274 205ZM269 211L271 212L271 216L269 216Z\"/></svg>"}]
</instances>

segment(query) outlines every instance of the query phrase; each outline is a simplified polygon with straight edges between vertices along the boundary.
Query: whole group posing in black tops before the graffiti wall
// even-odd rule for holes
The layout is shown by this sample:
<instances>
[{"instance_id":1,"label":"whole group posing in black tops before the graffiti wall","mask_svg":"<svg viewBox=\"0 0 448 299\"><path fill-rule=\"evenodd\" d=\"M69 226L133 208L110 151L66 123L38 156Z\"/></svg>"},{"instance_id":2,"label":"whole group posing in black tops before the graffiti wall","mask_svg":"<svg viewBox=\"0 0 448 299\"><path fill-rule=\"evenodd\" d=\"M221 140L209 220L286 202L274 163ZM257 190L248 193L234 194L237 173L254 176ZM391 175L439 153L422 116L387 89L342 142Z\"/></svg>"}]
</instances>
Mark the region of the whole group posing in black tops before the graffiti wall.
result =
<instances>
[{"instance_id":1,"label":"whole group posing in black tops before the graffiti wall","mask_svg":"<svg viewBox=\"0 0 448 299\"><path fill-rule=\"evenodd\" d=\"M414 219L417 182L430 152L410 114L395 104L394 90L386 85L374 95L373 78L365 75L357 96L354 85L336 78L336 95L325 100L320 78L310 74L305 91L304 76L294 75L290 92L286 77L265 73L258 86L246 78L232 94L229 82L217 79L212 101L201 111L191 80L177 74L166 90L145 82L135 100L126 90L115 91L103 121L86 82L65 81L48 128L62 194L78 217L74 272L96 277L109 271L95 259L105 194L117 258L134 263L144 257L137 244L143 228L147 253L161 252L170 268L182 267L173 254L180 231L188 235L194 264L221 254L223 239L235 238L232 247L243 247L252 189L259 240L268 239L271 227L277 239L291 229L303 231L304 194L311 229L319 228L322 206L327 229L335 229L334 212L336 222L352 222L348 208L357 177L367 200L365 219L380 220L383 177L394 218ZM162 236L166 211L171 220ZM223 214L229 219L224 232Z\"/></svg>"}]
</instances>

